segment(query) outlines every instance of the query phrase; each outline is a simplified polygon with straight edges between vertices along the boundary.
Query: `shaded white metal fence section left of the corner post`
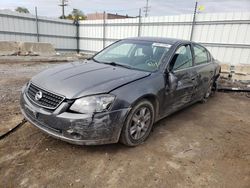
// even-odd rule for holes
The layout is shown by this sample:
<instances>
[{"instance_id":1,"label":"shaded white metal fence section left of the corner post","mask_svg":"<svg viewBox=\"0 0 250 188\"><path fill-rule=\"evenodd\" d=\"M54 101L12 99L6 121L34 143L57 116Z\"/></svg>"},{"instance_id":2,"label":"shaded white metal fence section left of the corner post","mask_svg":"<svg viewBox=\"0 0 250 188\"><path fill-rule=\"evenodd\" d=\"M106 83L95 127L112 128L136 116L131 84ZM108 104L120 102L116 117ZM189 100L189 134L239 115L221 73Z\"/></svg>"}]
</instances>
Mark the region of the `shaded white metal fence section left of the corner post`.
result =
<instances>
[{"instance_id":1,"label":"shaded white metal fence section left of the corner post","mask_svg":"<svg viewBox=\"0 0 250 188\"><path fill-rule=\"evenodd\" d=\"M0 10L0 40L50 42L57 50L77 50L77 28L72 21Z\"/></svg>"}]
</instances>

